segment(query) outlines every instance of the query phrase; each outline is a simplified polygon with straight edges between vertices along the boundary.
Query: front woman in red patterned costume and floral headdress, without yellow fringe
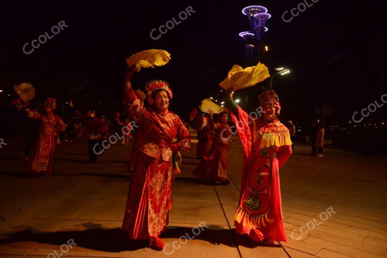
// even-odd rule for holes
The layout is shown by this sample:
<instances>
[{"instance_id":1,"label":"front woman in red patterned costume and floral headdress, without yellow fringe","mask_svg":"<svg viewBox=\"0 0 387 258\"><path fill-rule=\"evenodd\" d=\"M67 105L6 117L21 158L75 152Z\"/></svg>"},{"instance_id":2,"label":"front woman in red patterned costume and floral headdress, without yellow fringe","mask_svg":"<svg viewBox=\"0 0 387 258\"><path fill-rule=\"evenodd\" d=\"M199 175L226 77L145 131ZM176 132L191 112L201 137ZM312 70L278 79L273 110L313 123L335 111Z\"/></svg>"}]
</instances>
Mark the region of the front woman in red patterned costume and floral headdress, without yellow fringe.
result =
<instances>
[{"instance_id":1,"label":"front woman in red patterned costume and floral headdress, without yellow fringe","mask_svg":"<svg viewBox=\"0 0 387 258\"><path fill-rule=\"evenodd\" d=\"M128 69L124 95L127 111L139 118L139 132L122 231L131 239L149 239L151 248L162 250L159 234L168 225L172 178L179 173L172 161L179 150L189 150L190 136L180 118L168 110L172 99L168 83L155 80L146 84L150 106L145 107L132 89L133 72L133 67Z\"/></svg>"}]
</instances>

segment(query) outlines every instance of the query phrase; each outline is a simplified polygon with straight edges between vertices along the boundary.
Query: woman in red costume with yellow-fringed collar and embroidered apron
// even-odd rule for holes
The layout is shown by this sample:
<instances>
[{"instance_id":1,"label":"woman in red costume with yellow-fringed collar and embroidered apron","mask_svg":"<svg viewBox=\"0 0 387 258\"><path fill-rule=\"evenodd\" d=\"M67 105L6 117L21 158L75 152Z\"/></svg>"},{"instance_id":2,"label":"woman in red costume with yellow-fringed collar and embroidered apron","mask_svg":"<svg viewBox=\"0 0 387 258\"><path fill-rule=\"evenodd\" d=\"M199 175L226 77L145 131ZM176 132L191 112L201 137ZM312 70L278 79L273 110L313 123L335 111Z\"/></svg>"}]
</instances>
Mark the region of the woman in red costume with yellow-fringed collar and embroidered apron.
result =
<instances>
[{"instance_id":1,"label":"woman in red costume with yellow-fringed collar and embroidered apron","mask_svg":"<svg viewBox=\"0 0 387 258\"><path fill-rule=\"evenodd\" d=\"M226 91L231 117L241 139L243 174L235 228L254 241L287 241L282 217L279 169L292 154L288 128L278 116L281 106L270 90L259 96L261 114L248 115L232 100L233 88Z\"/></svg>"}]
</instances>

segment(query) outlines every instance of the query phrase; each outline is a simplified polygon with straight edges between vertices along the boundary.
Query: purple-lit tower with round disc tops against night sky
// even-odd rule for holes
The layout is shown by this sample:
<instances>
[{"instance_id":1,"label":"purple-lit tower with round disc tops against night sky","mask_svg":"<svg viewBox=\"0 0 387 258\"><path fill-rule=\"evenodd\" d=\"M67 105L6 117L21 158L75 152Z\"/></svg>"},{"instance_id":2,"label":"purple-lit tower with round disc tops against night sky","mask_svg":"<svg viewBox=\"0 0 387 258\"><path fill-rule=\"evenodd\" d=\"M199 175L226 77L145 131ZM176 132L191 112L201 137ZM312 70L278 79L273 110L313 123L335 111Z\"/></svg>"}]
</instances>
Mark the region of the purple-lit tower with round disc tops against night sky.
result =
<instances>
[{"instance_id":1,"label":"purple-lit tower with round disc tops against night sky","mask_svg":"<svg viewBox=\"0 0 387 258\"><path fill-rule=\"evenodd\" d=\"M264 46L262 39L264 33L268 31L265 27L266 21L271 17L268 14L268 9L263 6L249 6L242 10L242 13L247 16L250 21L250 30L239 33L245 40L246 44L246 65L254 65L261 61L268 66L269 55L262 54L263 51L268 52L268 46Z\"/></svg>"}]
</instances>

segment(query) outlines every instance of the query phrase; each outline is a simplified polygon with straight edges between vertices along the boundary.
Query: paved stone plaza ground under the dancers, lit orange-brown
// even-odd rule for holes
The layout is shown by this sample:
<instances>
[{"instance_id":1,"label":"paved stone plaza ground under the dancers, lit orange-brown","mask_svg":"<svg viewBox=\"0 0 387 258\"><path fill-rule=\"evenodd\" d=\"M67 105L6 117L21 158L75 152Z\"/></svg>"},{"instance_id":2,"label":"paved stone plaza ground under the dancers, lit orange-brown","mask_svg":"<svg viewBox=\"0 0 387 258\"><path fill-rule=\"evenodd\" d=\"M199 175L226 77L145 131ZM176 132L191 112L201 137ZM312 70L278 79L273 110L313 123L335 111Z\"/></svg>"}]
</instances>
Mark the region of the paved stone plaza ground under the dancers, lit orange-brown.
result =
<instances>
[{"instance_id":1,"label":"paved stone plaza ground under the dancers, lit orange-brown","mask_svg":"<svg viewBox=\"0 0 387 258\"><path fill-rule=\"evenodd\" d=\"M114 145L91 164L86 140L62 143L53 174L40 177L21 172L23 139L5 139L0 257L387 257L387 158L334 149L312 157L307 145L296 144L280 170L288 242L256 244L234 230L242 146L230 147L231 183L208 185L192 175L199 160L191 133L191 150L181 153L182 174L172 184L165 251L120 231L131 146Z\"/></svg>"}]
</instances>

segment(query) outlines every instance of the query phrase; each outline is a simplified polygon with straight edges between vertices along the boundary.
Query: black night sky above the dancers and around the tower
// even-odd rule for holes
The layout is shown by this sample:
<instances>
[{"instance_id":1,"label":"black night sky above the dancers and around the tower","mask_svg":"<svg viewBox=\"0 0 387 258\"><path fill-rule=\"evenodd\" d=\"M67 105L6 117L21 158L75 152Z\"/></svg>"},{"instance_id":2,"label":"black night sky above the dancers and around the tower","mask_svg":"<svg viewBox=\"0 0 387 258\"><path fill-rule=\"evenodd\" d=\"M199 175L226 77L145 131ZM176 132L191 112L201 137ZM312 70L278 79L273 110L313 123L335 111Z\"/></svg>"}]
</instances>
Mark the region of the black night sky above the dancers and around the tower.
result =
<instances>
[{"instance_id":1,"label":"black night sky above the dancers and around the tower","mask_svg":"<svg viewBox=\"0 0 387 258\"><path fill-rule=\"evenodd\" d=\"M312 4L311 0L305 1ZM114 110L104 104L90 102L90 94L106 95L101 99L107 103L120 101L125 59L157 48L171 54L170 62L135 74L134 88L154 79L168 81L173 91L170 109L186 118L200 100L210 96L222 100L218 84L233 64L244 66L244 41L238 33L249 29L249 21L241 10L261 5L272 15L265 34L271 67L288 66L293 70L287 76L276 77L274 82L283 118L309 123L315 106L332 105L331 123L340 123L343 118L349 121L354 111L374 100L380 102L380 70L376 66L380 67L381 36L385 47L382 2L367 1L359 6L352 1L319 0L285 23L282 14L299 3L302 2L7 3L0 18L2 109L7 110L9 102L17 98L13 85L29 82L36 89L36 98L53 96L62 103L73 98L81 110L93 108L112 115ZM195 13L158 40L151 39L153 28L172 18L179 21L179 12L189 6ZM30 50L32 40L45 32L52 34L52 26L60 21L68 27L31 54L23 53L25 43L29 43ZM94 100L98 94L93 95ZM246 91L236 92L235 98L244 94ZM378 114L371 118L378 119ZM383 119L386 114L387 111Z\"/></svg>"}]
</instances>

